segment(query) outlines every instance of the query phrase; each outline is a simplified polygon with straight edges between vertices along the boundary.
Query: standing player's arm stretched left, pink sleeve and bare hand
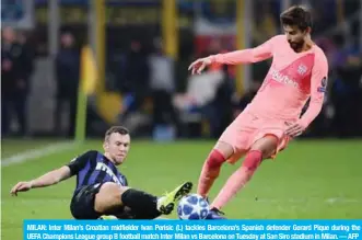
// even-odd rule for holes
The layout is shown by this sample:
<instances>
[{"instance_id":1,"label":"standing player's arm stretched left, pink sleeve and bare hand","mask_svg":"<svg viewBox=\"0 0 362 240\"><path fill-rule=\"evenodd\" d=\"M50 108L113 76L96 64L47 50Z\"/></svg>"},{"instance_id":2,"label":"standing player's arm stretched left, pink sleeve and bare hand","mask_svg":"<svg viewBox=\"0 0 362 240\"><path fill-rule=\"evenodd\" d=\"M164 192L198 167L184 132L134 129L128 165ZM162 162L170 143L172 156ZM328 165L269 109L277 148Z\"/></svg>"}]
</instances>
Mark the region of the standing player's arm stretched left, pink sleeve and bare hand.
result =
<instances>
[{"instance_id":1,"label":"standing player's arm stretched left, pink sleeve and bare hand","mask_svg":"<svg viewBox=\"0 0 362 240\"><path fill-rule=\"evenodd\" d=\"M272 57L272 45L278 37L279 36L275 36L255 48L235 50L226 54L218 54L206 58L200 58L190 65L189 70L191 69L192 73L201 73L208 65L213 62L222 65L238 65L266 60Z\"/></svg>"}]
</instances>

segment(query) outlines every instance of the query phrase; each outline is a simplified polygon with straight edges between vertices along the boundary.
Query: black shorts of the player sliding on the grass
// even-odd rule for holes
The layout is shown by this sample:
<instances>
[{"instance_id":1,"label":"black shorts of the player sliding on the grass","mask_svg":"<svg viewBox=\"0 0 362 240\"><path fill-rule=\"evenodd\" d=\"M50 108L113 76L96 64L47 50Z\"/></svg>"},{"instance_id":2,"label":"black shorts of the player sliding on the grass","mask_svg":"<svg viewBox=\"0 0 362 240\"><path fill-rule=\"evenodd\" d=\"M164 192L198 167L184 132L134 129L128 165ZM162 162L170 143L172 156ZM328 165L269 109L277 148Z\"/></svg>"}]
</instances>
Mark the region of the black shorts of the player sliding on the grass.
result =
<instances>
[{"instance_id":1,"label":"black shorts of the player sliding on the grass","mask_svg":"<svg viewBox=\"0 0 362 240\"><path fill-rule=\"evenodd\" d=\"M94 209L95 195L100 192L103 183L95 183L79 188L71 201L70 212L75 219L97 219L102 215L114 215L119 219L133 219L133 214L125 207L109 210L108 213L97 213Z\"/></svg>"}]
</instances>

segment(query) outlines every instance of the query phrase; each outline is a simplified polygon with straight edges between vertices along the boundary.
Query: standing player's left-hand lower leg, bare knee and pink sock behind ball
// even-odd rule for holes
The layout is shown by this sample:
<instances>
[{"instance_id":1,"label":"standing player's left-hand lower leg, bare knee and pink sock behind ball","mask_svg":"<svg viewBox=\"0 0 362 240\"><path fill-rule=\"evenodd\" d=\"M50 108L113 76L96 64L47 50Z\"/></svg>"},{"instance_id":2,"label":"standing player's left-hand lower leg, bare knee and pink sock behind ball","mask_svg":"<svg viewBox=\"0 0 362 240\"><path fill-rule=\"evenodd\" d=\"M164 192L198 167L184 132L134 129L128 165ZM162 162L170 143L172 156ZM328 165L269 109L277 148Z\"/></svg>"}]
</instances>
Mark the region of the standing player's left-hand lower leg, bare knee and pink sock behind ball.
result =
<instances>
[{"instance_id":1,"label":"standing player's left-hand lower leg, bare knee and pink sock behind ball","mask_svg":"<svg viewBox=\"0 0 362 240\"><path fill-rule=\"evenodd\" d=\"M197 188L199 195L207 197L213 182L220 174L221 165L233 155L233 152L234 149L229 144L218 142L215 145L206 159L201 170Z\"/></svg>"}]
</instances>

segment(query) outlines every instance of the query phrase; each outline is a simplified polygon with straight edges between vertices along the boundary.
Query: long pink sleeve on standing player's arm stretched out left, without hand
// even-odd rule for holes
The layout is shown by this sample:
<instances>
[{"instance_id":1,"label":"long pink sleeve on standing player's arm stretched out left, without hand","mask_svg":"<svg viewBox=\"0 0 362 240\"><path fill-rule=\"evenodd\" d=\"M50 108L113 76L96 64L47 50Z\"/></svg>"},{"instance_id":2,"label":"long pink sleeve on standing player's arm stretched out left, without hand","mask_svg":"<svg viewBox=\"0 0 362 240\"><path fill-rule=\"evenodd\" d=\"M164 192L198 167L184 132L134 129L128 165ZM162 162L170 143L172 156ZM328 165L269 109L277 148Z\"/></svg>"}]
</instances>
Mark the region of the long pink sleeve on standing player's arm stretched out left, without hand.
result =
<instances>
[{"instance_id":1,"label":"long pink sleeve on standing player's arm stretched out left, without hand","mask_svg":"<svg viewBox=\"0 0 362 240\"><path fill-rule=\"evenodd\" d=\"M278 36L275 36L255 48L212 55L210 56L210 58L212 62L225 65L252 64L262 61L272 57L272 46L277 39Z\"/></svg>"}]
</instances>

